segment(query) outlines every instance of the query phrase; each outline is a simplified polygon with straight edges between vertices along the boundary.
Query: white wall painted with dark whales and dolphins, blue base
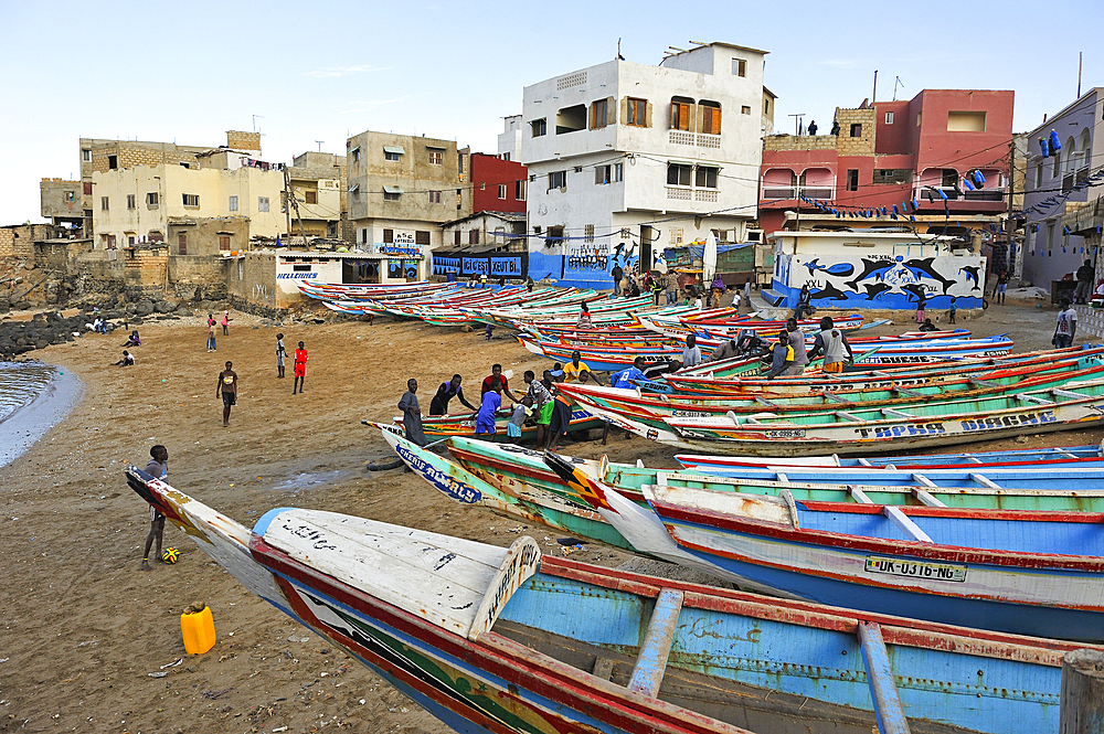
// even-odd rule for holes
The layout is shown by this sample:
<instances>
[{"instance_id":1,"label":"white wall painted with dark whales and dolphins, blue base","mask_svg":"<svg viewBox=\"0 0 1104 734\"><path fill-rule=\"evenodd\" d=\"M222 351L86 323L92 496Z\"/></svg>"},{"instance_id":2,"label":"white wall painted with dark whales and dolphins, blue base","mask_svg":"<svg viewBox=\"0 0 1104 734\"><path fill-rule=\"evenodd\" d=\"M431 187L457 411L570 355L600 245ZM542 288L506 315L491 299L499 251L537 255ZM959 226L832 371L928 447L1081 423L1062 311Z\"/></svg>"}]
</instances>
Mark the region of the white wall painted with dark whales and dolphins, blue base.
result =
<instances>
[{"instance_id":1,"label":"white wall painted with dark whales and dolphins, blue base","mask_svg":"<svg viewBox=\"0 0 1104 734\"><path fill-rule=\"evenodd\" d=\"M985 257L980 255L861 255L856 258L783 255L775 263L776 305L797 305L808 286L813 305L822 308L928 309L981 308Z\"/></svg>"}]
</instances>

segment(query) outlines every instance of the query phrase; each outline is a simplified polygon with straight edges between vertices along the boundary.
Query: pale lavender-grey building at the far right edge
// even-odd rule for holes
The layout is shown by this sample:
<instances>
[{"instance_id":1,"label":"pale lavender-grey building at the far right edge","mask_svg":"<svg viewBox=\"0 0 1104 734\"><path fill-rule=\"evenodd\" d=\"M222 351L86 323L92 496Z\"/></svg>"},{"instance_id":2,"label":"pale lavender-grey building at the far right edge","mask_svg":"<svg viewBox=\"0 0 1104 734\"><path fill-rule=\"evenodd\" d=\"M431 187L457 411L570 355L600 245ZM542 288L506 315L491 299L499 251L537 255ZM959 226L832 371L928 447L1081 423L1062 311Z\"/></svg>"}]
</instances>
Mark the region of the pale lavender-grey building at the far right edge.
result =
<instances>
[{"instance_id":1,"label":"pale lavender-grey building at the far right edge","mask_svg":"<svg viewBox=\"0 0 1104 734\"><path fill-rule=\"evenodd\" d=\"M1092 175L1104 166L1104 87L1095 87L1028 134L1030 156L1025 182L1023 279L1050 290L1084 260L1096 263L1104 188ZM1050 152L1051 132L1061 150ZM1042 155L1039 140L1048 145ZM1098 276L1100 277L1100 276Z\"/></svg>"}]
</instances>

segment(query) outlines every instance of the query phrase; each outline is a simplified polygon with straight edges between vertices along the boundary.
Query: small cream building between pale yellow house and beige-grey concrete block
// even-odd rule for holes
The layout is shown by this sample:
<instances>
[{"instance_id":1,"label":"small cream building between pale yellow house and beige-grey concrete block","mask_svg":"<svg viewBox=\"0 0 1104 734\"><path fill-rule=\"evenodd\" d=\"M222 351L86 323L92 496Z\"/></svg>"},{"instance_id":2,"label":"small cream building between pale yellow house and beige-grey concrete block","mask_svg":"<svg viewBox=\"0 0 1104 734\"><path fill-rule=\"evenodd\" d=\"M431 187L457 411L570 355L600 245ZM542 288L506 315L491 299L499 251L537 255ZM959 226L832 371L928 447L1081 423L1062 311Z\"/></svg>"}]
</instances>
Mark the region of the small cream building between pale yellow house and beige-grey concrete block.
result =
<instances>
[{"instance_id":1,"label":"small cream building between pale yellow house and beige-grey concrete block","mask_svg":"<svg viewBox=\"0 0 1104 734\"><path fill-rule=\"evenodd\" d=\"M353 242L346 205L344 156L308 151L293 158L286 172L295 194L295 205L287 211L287 231L293 236Z\"/></svg>"}]
</instances>

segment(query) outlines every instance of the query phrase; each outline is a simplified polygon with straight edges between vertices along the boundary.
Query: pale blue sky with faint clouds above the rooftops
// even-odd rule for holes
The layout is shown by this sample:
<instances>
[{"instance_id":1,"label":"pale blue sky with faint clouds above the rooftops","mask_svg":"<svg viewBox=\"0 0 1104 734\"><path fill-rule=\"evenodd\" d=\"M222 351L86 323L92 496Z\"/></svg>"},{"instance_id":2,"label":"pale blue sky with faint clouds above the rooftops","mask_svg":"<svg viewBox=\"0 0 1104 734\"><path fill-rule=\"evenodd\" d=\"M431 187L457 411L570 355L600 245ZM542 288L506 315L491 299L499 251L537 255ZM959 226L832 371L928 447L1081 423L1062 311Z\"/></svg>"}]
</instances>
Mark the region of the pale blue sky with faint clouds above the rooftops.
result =
<instances>
[{"instance_id":1,"label":"pale blue sky with faint clouds above the rooftops","mask_svg":"<svg viewBox=\"0 0 1104 734\"><path fill-rule=\"evenodd\" d=\"M39 181L79 175L81 137L225 145L259 130L262 158L344 153L363 130L497 152L526 85L668 46L762 49L792 114L925 88L1012 89L1015 128L1104 86L1104 3L21 2L0 0L0 225L39 222ZM1096 36L1096 38L1094 38ZM1095 43L1094 43L1095 41ZM828 125L825 125L827 123Z\"/></svg>"}]
</instances>

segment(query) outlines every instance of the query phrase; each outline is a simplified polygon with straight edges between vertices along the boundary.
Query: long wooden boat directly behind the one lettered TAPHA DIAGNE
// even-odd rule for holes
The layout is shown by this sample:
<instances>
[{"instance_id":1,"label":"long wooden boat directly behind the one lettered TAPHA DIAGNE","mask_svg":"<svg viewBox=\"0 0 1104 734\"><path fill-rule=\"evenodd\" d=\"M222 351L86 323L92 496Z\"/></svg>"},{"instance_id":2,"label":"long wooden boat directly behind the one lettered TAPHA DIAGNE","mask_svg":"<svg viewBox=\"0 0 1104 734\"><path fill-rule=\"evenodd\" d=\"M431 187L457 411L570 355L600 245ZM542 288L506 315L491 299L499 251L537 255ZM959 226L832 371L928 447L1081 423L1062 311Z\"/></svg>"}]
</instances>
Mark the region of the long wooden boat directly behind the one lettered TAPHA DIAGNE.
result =
<instances>
[{"instance_id":1,"label":"long wooden boat directly behind the one lettered TAPHA DIAGNE","mask_svg":"<svg viewBox=\"0 0 1104 734\"><path fill-rule=\"evenodd\" d=\"M668 417L721 417L761 415L769 411L778 416L792 412L850 411L852 408L902 407L932 400L965 400L1023 392L1032 389L1061 387L1076 380L1104 377L1104 364L1075 369L1076 360L1055 362L1026 376L1020 371L1011 374L989 374L985 380L947 375L947 380L916 387L896 384L854 390L842 395L819 391L764 397L755 393L714 393L708 397L684 395L645 394L639 390L590 384L565 384L560 390L581 406L597 406L634 417L648 425L666 428Z\"/></svg>"}]
</instances>

